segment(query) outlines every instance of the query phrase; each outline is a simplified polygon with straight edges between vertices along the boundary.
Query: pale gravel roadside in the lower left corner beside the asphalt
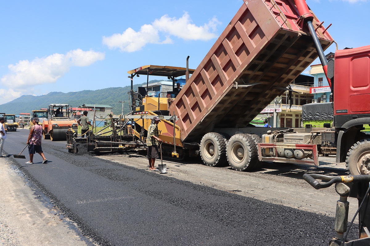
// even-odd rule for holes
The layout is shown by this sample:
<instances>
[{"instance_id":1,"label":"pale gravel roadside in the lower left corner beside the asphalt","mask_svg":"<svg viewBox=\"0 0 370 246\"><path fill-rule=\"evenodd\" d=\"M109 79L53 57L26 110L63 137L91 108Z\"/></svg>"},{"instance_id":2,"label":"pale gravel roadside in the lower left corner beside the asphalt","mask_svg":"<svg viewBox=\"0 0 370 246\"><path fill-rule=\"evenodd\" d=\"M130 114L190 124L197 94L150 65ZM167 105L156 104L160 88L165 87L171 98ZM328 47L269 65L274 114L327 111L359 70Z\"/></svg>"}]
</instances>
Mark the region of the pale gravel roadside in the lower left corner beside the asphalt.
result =
<instances>
[{"instance_id":1,"label":"pale gravel roadside in the lower left corner beside the asphalt","mask_svg":"<svg viewBox=\"0 0 370 246\"><path fill-rule=\"evenodd\" d=\"M0 158L0 191L0 245L94 245L56 208L47 206L50 201L27 185L8 158Z\"/></svg>"}]
</instances>

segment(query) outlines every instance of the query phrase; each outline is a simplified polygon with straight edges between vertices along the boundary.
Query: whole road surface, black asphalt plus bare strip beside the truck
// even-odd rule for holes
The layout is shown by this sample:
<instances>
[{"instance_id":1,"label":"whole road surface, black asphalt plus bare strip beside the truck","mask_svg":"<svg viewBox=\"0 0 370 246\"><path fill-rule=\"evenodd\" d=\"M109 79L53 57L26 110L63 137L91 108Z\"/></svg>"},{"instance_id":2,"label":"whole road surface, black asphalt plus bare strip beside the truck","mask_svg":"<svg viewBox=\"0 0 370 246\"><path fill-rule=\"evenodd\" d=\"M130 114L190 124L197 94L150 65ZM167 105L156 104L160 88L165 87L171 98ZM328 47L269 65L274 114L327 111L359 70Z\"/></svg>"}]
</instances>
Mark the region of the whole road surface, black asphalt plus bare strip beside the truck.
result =
<instances>
[{"instance_id":1,"label":"whole road surface, black asphalt plus bare strip beside the truck","mask_svg":"<svg viewBox=\"0 0 370 246\"><path fill-rule=\"evenodd\" d=\"M24 148L27 135L8 135L9 156ZM101 245L327 245L335 236L339 196L331 188L316 191L301 177L344 174L342 168L268 164L246 173L193 159L166 162L168 174L159 174L133 153L73 155L65 142L45 140L43 150L47 164L38 155L31 165L8 159ZM350 202L356 209L356 200ZM356 235L354 226L350 237Z\"/></svg>"}]
</instances>

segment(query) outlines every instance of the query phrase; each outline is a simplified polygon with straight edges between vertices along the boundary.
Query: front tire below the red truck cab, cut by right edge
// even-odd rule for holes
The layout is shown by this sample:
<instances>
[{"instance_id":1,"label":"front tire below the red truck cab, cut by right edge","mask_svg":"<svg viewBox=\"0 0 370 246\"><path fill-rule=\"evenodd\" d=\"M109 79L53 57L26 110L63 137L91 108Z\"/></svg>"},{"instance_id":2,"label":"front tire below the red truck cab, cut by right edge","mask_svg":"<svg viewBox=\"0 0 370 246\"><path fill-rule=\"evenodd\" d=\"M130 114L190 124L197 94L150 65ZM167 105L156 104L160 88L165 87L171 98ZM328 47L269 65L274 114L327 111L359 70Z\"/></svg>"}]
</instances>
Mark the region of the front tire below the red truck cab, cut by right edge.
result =
<instances>
[{"instance_id":1,"label":"front tire below the red truck cab, cut by right edge","mask_svg":"<svg viewBox=\"0 0 370 246\"><path fill-rule=\"evenodd\" d=\"M370 174L370 138L352 145L347 153L346 169L352 175Z\"/></svg>"}]
</instances>

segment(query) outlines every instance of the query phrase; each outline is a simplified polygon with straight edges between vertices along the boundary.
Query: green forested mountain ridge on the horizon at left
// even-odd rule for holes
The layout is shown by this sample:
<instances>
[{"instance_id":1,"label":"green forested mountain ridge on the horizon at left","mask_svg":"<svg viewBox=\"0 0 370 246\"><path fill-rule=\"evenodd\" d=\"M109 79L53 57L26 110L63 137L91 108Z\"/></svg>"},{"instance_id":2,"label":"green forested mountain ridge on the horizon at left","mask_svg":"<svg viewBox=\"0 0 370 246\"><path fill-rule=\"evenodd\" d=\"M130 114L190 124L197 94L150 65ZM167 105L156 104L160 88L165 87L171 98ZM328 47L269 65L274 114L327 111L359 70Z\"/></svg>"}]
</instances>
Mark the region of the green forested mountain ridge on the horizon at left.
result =
<instances>
[{"instance_id":1,"label":"green forested mountain ridge on the horizon at left","mask_svg":"<svg viewBox=\"0 0 370 246\"><path fill-rule=\"evenodd\" d=\"M152 80L149 83L158 82L160 80ZM144 84L144 83L143 83ZM134 84L133 89L137 91L139 86L143 84ZM146 83L145 83L146 84ZM42 96L21 96L9 103L0 105L0 112L7 114L30 113L32 110L47 108L51 103L70 104L72 107L78 107L83 104L105 104L113 107L114 114L121 114L122 103L125 101L124 114L131 110L129 109L129 90L131 86L125 87L110 87L101 90L83 90L75 92L50 92Z\"/></svg>"}]
</instances>

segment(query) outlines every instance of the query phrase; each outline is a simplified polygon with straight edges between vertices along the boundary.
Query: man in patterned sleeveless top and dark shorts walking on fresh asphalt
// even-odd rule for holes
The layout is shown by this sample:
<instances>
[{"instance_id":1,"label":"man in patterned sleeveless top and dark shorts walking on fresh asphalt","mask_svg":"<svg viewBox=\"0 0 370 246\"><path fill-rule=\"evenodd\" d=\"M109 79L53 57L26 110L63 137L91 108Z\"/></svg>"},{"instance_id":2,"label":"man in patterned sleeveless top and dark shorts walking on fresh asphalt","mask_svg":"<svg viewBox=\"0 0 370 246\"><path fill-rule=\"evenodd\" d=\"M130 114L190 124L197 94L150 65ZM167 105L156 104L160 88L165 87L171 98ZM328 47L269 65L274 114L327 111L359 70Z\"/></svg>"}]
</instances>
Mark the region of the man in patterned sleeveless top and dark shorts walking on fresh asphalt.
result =
<instances>
[{"instance_id":1,"label":"man in patterned sleeveless top and dark shorts walking on fresh asphalt","mask_svg":"<svg viewBox=\"0 0 370 246\"><path fill-rule=\"evenodd\" d=\"M43 127L38 124L40 120L35 117L32 120L32 127L30 129L30 135L28 135L28 153L30 154L30 161L26 164L33 164L33 155L38 153L43 157L43 163L47 163L47 159L44 156L44 152L41 149L41 135L43 134Z\"/></svg>"}]
</instances>

